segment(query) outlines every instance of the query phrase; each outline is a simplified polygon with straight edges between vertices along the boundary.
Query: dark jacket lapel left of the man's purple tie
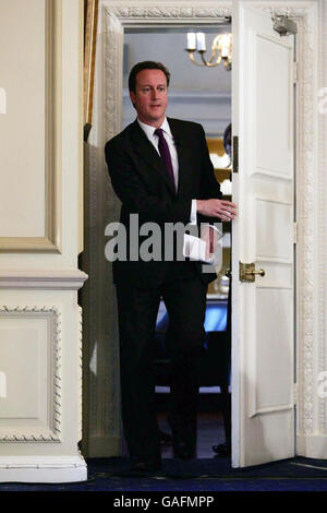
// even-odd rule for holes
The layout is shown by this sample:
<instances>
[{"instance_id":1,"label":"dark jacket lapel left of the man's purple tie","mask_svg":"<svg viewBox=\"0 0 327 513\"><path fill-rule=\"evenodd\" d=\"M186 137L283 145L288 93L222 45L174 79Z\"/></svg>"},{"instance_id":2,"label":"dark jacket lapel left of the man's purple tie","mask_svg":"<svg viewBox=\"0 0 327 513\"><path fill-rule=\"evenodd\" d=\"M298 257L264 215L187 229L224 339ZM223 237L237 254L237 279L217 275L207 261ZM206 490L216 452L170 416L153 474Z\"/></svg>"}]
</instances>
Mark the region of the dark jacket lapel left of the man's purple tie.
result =
<instances>
[{"instance_id":1,"label":"dark jacket lapel left of the man's purple tie","mask_svg":"<svg viewBox=\"0 0 327 513\"><path fill-rule=\"evenodd\" d=\"M135 154L146 160L146 163L150 166L152 170L155 169L160 175L160 177L169 187L170 191L173 193L173 195L175 195L174 188L170 181L170 178L168 176L167 169L161 160L160 155L154 147L153 143L145 135L137 120L135 120L133 123L132 140L134 143Z\"/></svg>"}]
</instances>

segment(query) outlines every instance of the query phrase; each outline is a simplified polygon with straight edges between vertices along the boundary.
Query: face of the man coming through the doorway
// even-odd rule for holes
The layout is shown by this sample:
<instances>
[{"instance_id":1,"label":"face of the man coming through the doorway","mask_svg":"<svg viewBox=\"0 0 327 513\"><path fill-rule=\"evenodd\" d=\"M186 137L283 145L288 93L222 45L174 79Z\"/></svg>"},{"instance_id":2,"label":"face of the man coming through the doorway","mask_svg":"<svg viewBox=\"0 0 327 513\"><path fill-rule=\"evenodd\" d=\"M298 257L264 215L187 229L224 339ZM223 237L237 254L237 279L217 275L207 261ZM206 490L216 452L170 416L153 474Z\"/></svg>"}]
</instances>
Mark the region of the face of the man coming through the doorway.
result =
<instances>
[{"instance_id":1,"label":"face of the man coming through the doorway","mask_svg":"<svg viewBox=\"0 0 327 513\"><path fill-rule=\"evenodd\" d=\"M135 93L130 97L140 121L152 127L160 127L168 104L167 79L161 70L142 70L136 75Z\"/></svg>"}]
</instances>

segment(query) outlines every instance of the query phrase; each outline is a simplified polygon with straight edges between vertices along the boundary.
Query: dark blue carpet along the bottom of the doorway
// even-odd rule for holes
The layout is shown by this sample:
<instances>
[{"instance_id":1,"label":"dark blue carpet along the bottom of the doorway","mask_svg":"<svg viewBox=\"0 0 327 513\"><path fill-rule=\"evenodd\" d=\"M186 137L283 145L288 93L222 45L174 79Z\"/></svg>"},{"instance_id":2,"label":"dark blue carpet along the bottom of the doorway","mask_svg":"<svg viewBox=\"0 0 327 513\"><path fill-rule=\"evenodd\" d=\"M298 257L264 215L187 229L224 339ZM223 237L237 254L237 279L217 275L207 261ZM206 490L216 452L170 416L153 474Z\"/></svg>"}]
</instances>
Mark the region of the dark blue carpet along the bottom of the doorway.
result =
<instances>
[{"instance_id":1,"label":"dark blue carpet along the bottom of the doorway","mask_svg":"<svg viewBox=\"0 0 327 513\"><path fill-rule=\"evenodd\" d=\"M327 491L327 461L295 457L234 469L228 458L165 460L162 470L132 477L125 458L89 458L78 484L1 484L2 491Z\"/></svg>"}]
</instances>

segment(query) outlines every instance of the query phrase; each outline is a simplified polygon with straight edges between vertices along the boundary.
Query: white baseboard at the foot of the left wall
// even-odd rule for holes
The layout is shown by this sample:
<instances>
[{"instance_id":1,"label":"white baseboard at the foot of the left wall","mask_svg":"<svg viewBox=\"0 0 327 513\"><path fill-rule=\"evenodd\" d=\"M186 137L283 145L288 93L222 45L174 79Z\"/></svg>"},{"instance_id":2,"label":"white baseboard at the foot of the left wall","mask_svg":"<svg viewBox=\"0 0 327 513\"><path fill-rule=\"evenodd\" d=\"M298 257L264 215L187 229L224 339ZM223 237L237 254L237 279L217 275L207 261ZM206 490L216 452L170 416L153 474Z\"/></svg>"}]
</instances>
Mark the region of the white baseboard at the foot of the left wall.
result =
<instances>
[{"instance_id":1,"label":"white baseboard at the foot of the left wall","mask_svg":"<svg viewBox=\"0 0 327 513\"><path fill-rule=\"evenodd\" d=\"M1 456L0 482L76 482L87 480L82 456Z\"/></svg>"}]
</instances>

